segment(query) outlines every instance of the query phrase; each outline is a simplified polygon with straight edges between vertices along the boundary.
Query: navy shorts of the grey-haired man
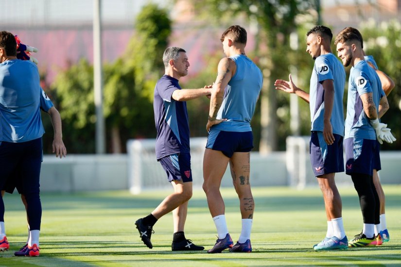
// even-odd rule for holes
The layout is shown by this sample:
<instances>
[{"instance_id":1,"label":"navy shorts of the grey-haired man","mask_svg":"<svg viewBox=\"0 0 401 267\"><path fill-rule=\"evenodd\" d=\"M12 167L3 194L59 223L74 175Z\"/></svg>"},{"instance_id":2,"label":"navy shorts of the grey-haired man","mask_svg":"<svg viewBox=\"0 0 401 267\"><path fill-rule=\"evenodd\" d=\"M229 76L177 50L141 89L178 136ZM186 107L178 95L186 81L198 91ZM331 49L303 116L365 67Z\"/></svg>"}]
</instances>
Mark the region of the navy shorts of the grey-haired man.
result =
<instances>
[{"instance_id":1,"label":"navy shorts of the grey-haired man","mask_svg":"<svg viewBox=\"0 0 401 267\"><path fill-rule=\"evenodd\" d=\"M169 182L182 180L183 183L192 182L191 154L176 153L158 160L167 173Z\"/></svg>"}]
</instances>

